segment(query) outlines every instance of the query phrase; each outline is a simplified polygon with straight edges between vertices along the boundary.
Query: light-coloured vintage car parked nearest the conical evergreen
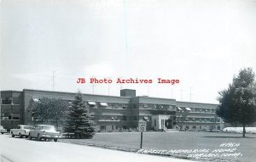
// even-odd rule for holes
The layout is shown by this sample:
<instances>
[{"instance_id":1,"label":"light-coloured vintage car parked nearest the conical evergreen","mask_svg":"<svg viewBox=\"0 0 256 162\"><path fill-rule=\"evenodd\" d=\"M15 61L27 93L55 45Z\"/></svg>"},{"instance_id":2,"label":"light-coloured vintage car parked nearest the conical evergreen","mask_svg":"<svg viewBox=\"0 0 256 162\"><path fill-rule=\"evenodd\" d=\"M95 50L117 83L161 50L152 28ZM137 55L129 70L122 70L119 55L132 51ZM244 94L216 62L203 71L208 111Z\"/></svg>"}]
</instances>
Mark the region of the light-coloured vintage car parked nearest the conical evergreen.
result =
<instances>
[{"instance_id":1,"label":"light-coloured vintage car parked nearest the conical evergreen","mask_svg":"<svg viewBox=\"0 0 256 162\"><path fill-rule=\"evenodd\" d=\"M55 142L58 141L58 138L61 137L61 133L59 131L55 131L54 126L48 125L35 125L33 126L34 129L29 131L29 139L36 138L37 140L41 141L44 139L54 139Z\"/></svg>"}]
</instances>

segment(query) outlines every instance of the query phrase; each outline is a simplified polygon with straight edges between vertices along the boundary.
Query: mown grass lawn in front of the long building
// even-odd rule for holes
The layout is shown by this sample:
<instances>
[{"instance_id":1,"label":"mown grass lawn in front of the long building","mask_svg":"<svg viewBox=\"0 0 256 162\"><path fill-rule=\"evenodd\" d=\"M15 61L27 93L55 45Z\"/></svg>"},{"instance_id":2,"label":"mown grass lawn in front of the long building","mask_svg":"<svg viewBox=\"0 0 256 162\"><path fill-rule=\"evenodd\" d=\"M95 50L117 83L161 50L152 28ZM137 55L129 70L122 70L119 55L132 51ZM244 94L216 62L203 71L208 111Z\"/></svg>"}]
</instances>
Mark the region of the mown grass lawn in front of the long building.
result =
<instances>
[{"instance_id":1,"label":"mown grass lawn in front of the long building","mask_svg":"<svg viewBox=\"0 0 256 162\"><path fill-rule=\"evenodd\" d=\"M69 139L72 142L84 142L101 146L113 146L119 148L140 147L139 132L110 132L97 133L93 139ZM145 132L143 133L143 149L154 150L178 150L178 149L229 149L230 147L219 147L222 143L240 143L236 153L238 157L218 156L218 159L232 159L239 161L256 161L256 135L247 134L242 138L241 134L217 133L217 132ZM215 153L217 154L217 153ZM218 153L219 155L224 153ZM188 155L188 154L182 154Z\"/></svg>"}]
</instances>

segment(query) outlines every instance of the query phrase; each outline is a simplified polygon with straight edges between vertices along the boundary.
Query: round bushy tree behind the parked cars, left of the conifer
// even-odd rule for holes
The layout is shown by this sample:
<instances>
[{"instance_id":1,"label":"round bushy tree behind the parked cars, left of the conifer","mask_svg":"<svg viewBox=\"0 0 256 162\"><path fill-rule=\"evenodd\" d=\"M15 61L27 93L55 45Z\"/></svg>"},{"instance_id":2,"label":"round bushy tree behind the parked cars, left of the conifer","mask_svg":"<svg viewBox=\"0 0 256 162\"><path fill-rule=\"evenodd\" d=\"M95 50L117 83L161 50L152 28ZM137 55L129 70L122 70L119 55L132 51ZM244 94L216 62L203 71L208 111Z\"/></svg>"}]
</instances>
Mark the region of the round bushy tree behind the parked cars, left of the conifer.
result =
<instances>
[{"instance_id":1,"label":"round bushy tree behind the parked cars, left of the conifer","mask_svg":"<svg viewBox=\"0 0 256 162\"><path fill-rule=\"evenodd\" d=\"M31 101L34 124L52 124L58 129L67 117L68 103L61 98L40 98Z\"/></svg>"}]
</instances>

